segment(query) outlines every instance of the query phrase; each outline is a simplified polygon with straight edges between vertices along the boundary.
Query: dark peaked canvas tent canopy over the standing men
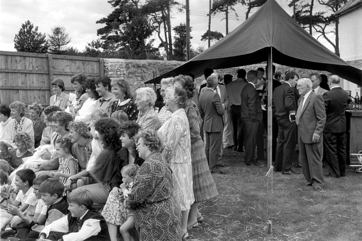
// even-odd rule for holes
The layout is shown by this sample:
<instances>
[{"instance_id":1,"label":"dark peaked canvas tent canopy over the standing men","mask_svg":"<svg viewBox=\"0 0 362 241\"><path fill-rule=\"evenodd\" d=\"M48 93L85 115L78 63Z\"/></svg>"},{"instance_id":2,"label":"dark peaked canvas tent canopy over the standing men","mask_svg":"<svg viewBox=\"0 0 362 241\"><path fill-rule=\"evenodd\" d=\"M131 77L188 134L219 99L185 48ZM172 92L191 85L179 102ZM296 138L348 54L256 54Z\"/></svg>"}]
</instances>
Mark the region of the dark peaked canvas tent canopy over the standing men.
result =
<instances>
[{"instance_id":1,"label":"dark peaked canvas tent canopy over the standing men","mask_svg":"<svg viewBox=\"0 0 362 241\"><path fill-rule=\"evenodd\" d=\"M275 0L268 0L243 24L185 64L146 84L185 73L201 76L204 69L223 69L266 61L270 47L273 62L290 67L328 71L362 85L362 70L324 47L300 27Z\"/></svg>"}]
</instances>

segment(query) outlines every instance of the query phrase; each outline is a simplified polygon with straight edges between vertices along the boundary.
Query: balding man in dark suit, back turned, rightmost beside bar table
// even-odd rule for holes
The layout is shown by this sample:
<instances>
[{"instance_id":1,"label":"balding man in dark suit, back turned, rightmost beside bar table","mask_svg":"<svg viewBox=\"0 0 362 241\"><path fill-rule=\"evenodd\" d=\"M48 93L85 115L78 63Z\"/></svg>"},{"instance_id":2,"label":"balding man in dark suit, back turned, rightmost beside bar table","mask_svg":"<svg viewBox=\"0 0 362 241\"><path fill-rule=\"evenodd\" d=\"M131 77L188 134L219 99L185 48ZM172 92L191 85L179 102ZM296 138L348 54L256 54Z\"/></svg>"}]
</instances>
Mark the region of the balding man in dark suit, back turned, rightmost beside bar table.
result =
<instances>
[{"instance_id":1,"label":"balding man in dark suit, back turned, rightmost beside bar table","mask_svg":"<svg viewBox=\"0 0 362 241\"><path fill-rule=\"evenodd\" d=\"M346 106L348 94L340 85L340 77L331 75L328 79L331 90L323 94L327 120L323 130L325 154L329 176L344 177L346 170Z\"/></svg>"}]
</instances>

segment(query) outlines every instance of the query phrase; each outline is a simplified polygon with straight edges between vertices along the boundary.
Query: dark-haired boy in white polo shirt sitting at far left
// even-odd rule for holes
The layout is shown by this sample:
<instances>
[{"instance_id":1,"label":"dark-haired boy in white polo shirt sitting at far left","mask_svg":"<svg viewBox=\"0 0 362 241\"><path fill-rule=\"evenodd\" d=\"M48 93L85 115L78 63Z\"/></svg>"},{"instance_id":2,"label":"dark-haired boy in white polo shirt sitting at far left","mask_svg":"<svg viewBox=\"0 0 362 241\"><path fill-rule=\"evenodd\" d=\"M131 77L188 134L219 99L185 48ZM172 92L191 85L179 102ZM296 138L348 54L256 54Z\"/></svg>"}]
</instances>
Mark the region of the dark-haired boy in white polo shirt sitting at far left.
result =
<instances>
[{"instance_id":1,"label":"dark-haired boy in white polo shirt sitting at far left","mask_svg":"<svg viewBox=\"0 0 362 241\"><path fill-rule=\"evenodd\" d=\"M33 190L33 180L35 178L35 173L30 169L22 169L16 173L15 177L15 185L18 192L16 199L14 202L9 202L15 207L19 207L20 212L26 212L30 217L34 216L35 206L38 203L38 199L34 195ZM7 190L3 191L4 198L7 199L10 197L10 193ZM9 199L10 200L10 199ZM8 205L9 208L9 205ZM7 212L1 212L1 230L5 229L7 225L10 223L11 228L6 228L5 231L12 231L16 233L16 230L12 230L12 228L16 228L16 226L20 223L21 218L19 216L13 216Z\"/></svg>"}]
</instances>

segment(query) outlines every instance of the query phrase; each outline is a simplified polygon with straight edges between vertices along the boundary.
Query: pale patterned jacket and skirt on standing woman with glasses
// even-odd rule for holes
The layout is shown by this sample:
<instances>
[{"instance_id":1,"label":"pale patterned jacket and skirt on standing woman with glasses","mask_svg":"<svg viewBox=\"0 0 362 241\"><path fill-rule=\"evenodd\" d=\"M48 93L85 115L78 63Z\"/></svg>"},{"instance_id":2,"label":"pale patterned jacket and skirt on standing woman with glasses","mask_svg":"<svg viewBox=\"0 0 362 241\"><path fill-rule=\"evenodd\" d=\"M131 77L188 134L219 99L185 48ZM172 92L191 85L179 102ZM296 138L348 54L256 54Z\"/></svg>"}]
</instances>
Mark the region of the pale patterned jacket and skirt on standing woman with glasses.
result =
<instances>
[{"instance_id":1,"label":"pale patterned jacket and skirt on standing woman with glasses","mask_svg":"<svg viewBox=\"0 0 362 241\"><path fill-rule=\"evenodd\" d=\"M165 148L162 156L169 163L173 177L173 195L181 211L194 203L191 166L190 127L185 110L180 108L161 126L158 136Z\"/></svg>"}]
</instances>

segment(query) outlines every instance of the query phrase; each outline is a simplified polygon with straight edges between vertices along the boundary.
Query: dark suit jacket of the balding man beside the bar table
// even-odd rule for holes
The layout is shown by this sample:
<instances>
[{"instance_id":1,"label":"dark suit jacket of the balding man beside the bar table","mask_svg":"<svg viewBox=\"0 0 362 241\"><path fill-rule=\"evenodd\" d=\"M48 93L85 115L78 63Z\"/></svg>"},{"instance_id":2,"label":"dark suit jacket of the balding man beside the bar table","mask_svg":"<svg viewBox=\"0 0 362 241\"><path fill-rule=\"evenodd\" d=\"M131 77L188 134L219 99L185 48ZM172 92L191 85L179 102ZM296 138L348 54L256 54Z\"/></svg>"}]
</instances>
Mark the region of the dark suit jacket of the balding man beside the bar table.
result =
<instances>
[{"instance_id":1,"label":"dark suit jacket of the balding man beside the bar table","mask_svg":"<svg viewBox=\"0 0 362 241\"><path fill-rule=\"evenodd\" d=\"M323 132L346 132L346 106L348 93L341 87L335 87L323 94L325 122Z\"/></svg>"}]
</instances>

